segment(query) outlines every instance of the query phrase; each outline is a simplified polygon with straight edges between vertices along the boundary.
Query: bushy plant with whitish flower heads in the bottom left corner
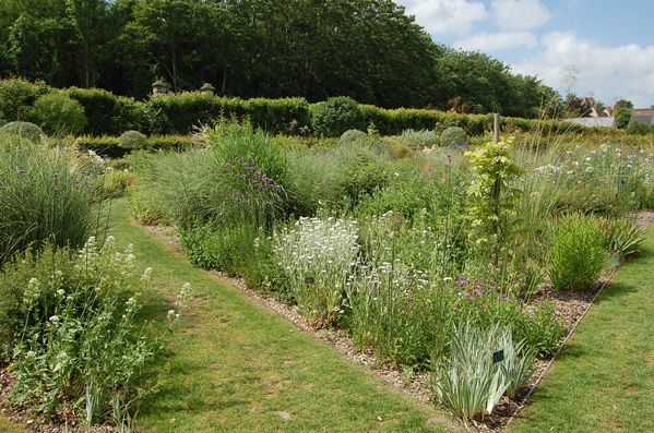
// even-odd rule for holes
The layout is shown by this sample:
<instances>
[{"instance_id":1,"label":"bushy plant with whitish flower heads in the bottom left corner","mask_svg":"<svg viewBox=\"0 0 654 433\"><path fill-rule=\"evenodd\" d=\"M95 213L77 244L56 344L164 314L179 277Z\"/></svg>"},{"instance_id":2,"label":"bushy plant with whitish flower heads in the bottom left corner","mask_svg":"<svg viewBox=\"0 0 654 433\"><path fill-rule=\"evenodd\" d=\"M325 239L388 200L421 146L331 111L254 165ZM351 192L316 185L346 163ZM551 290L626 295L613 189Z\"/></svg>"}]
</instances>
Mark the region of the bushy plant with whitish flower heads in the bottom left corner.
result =
<instances>
[{"instance_id":1,"label":"bushy plant with whitish flower heads in the bottom left corner","mask_svg":"<svg viewBox=\"0 0 654 433\"><path fill-rule=\"evenodd\" d=\"M90 428L110 413L120 413L121 420L128 411L134 416L148 390L140 381L162 349L164 334L153 334L136 320L152 268L138 273L130 248L117 250L112 238L100 248L90 238L71 253L46 249L4 268L21 323L10 401L47 416L72 412ZM41 279L22 280L26 266ZM190 296L185 286L180 303ZM178 316L170 310L169 324Z\"/></svg>"}]
</instances>

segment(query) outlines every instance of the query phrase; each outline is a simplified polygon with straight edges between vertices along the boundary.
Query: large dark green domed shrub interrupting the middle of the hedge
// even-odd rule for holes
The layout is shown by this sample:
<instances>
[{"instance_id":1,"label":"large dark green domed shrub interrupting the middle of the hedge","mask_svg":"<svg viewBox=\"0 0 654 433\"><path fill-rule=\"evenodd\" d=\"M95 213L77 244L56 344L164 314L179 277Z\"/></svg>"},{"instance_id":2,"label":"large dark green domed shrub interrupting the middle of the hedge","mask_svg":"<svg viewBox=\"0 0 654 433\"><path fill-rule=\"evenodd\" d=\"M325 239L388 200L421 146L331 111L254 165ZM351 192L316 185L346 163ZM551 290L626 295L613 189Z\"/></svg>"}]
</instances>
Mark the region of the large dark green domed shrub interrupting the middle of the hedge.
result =
<instances>
[{"instance_id":1,"label":"large dark green domed shrub interrupting the middle of the hedge","mask_svg":"<svg viewBox=\"0 0 654 433\"><path fill-rule=\"evenodd\" d=\"M341 136L347 130L365 130L366 120L357 103L348 97L329 98L316 105L311 124L319 136Z\"/></svg>"}]
</instances>

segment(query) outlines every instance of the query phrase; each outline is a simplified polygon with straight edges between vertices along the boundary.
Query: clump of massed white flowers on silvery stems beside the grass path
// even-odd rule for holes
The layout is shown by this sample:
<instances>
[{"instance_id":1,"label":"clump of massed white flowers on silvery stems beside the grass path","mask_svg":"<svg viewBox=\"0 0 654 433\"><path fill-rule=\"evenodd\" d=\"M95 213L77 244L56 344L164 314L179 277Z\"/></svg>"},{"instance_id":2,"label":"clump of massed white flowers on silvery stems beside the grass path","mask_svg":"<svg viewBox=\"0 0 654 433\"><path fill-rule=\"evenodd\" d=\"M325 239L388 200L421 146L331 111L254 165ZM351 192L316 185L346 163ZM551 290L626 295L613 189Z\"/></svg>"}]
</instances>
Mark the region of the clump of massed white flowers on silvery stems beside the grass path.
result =
<instances>
[{"instance_id":1,"label":"clump of massed white flowers on silvery stems beside the grass path","mask_svg":"<svg viewBox=\"0 0 654 433\"><path fill-rule=\"evenodd\" d=\"M300 218L274 236L274 252L299 311L317 327L342 314L347 277L359 246L353 220Z\"/></svg>"}]
</instances>

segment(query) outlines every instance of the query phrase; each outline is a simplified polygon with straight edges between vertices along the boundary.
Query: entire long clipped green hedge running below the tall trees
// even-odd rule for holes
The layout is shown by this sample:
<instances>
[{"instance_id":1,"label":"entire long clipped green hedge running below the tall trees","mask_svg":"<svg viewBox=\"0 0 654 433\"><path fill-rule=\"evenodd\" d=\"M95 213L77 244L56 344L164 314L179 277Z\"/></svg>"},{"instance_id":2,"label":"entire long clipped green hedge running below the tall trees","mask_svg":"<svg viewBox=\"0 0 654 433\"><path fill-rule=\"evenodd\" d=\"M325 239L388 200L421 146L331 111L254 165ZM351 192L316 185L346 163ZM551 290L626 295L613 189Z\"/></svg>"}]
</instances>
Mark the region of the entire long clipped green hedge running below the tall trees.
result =
<instances>
[{"instance_id":1,"label":"entire long clipped green hedge running below the tall trees","mask_svg":"<svg viewBox=\"0 0 654 433\"><path fill-rule=\"evenodd\" d=\"M31 107L34 101L48 93L63 92L84 107L87 124L84 134L120 135L128 130L136 130L147 135L188 134L195 127L212 124L221 117L248 118L255 125L272 133L288 133L292 123L295 131L312 124L312 113L319 106L310 105L304 98L284 99L240 99L210 96L198 92L168 94L140 101L116 96L97 88L70 87L59 91L41 82L24 80L0 81L0 119L32 120ZM319 103L324 104L324 103ZM431 109L383 109L359 105L367 124L373 123L384 135L395 135L407 129L438 130L457 125L471 135L479 135L492 124L491 115L457 115ZM504 128L520 128L523 131L584 132L592 129L562 121L502 118ZM352 125L352 128L360 128Z\"/></svg>"}]
</instances>

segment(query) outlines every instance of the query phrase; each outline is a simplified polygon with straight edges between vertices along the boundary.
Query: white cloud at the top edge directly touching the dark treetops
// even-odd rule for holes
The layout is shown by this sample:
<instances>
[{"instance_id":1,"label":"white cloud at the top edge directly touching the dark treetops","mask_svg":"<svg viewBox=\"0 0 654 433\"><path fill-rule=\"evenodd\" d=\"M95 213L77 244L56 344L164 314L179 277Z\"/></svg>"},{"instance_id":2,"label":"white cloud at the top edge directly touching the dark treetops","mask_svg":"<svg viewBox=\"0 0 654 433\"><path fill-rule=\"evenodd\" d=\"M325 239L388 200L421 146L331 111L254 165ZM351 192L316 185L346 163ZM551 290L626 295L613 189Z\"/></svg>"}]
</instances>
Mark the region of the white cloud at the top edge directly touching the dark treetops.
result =
<instances>
[{"instance_id":1,"label":"white cloud at the top edge directly touching the dark treetops","mask_svg":"<svg viewBox=\"0 0 654 433\"><path fill-rule=\"evenodd\" d=\"M480 1L469 0L399 0L409 15L431 34L453 33L464 35L473 23L487 16Z\"/></svg>"}]
</instances>

